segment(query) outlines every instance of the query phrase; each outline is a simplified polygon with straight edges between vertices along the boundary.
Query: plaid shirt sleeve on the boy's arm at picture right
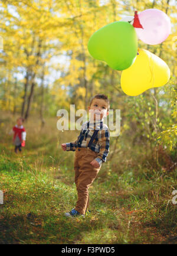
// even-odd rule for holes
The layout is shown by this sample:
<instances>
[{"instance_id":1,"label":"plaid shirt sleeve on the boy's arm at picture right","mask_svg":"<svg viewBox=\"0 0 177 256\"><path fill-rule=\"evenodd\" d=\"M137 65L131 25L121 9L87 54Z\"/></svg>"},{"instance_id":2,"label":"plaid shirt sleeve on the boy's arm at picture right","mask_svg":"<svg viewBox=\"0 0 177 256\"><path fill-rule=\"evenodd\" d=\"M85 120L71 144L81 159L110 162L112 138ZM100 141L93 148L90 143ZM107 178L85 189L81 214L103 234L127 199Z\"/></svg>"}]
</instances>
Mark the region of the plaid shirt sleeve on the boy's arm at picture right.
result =
<instances>
[{"instance_id":1,"label":"plaid shirt sleeve on the boy's arm at picture right","mask_svg":"<svg viewBox=\"0 0 177 256\"><path fill-rule=\"evenodd\" d=\"M98 132L99 146L100 152L97 155L95 160L101 164L106 162L107 155L109 154L109 141L110 141L110 132L109 129L102 129Z\"/></svg>"}]
</instances>

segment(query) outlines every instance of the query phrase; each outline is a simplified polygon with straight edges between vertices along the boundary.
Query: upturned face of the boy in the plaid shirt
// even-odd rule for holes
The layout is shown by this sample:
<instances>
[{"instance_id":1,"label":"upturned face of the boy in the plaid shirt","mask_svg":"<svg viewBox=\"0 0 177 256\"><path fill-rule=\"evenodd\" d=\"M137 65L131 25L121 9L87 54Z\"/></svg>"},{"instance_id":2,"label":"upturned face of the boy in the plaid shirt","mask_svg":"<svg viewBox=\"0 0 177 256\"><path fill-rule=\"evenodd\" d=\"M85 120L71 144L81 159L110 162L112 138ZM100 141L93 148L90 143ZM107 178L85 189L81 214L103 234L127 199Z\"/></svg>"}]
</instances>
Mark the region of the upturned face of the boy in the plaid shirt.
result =
<instances>
[{"instance_id":1,"label":"upturned face of the boy in the plaid shirt","mask_svg":"<svg viewBox=\"0 0 177 256\"><path fill-rule=\"evenodd\" d=\"M109 114L108 104L104 99L93 99L91 105L88 107L89 113L91 112L91 119L101 120ZM92 109L92 111L90 111Z\"/></svg>"}]
</instances>

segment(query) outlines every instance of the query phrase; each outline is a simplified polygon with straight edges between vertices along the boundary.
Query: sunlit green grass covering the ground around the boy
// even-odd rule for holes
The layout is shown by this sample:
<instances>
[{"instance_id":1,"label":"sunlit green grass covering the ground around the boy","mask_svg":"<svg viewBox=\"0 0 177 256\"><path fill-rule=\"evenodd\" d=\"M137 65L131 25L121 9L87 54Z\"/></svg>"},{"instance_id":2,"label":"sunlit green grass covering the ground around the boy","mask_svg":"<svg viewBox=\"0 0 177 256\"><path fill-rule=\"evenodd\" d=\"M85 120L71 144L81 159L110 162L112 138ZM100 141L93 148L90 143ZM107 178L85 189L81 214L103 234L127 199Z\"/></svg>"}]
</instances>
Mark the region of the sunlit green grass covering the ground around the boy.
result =
<instances>
[{"instance_id":1,"label":"sunlit green grass covering the ground around the boy","mask_svg":"<svg viewBox=\"0 0 177 256\"><path fill-rule=\"evenodd\" d=\"M17 155L6 136L13 120L2 119L0 244L175 244L177 174L149 166L125 138L120 139L125 151L108 158L90 187L91 213L84 219L64 217L77 193L74 153L60 145L74 141L78 132L59 132L56 122L50 119L40 129L35 121L32 134L34 123L25 124L27 146Z\"/></svg>"}]
</instances>

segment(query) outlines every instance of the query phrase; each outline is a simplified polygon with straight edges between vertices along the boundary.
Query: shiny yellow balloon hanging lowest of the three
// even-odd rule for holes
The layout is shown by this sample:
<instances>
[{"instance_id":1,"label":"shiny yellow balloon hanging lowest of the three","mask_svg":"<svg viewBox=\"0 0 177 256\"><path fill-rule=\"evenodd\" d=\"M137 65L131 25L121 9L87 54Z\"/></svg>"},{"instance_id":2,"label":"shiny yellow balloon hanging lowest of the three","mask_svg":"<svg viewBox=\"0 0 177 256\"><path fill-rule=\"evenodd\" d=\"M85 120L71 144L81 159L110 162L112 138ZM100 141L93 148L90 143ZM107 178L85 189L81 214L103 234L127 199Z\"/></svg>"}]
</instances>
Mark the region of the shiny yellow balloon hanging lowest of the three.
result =
<instances>
[{"instance_id":1,"label":"shiny yellow balloon hanging lowest of the three","mask_svg":"<svg viewBox=\"0 0 177 256\"><path fill-rule=\"evenodd\" d=\"M137 96L150 88L165 85L171 75L168 65L150 51L138 50L135 62L123 70L120 85L124 93Z\"/></svg>"}]
</instances>

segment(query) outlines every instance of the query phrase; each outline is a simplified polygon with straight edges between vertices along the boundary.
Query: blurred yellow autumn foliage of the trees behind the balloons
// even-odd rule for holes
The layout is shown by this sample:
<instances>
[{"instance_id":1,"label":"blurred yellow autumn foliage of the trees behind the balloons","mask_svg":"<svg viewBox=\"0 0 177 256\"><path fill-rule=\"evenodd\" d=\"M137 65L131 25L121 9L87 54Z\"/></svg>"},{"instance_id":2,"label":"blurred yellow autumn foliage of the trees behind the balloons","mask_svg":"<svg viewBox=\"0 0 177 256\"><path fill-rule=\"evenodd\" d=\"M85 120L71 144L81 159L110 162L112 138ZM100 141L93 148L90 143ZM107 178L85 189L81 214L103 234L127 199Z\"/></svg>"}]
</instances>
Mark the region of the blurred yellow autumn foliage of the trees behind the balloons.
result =
<instances>
[{"instance_id":1,"label":"blurred yellow autumn foliage of the trees behind the balloons","mask_svg":"<svg viewBox=\"0 0 177 256\"><path fill-rule=\"evenodd\" d=\"M172 76L177 76L177 19L174 15L176 5L167 5L167 1L162 0L133 1L133 5L139 12L152 5L153 8L168 12L172 22L172 34L163 44L144 44L143 48L148 48L158 56L160 54L170 67ZM68 108L68 92L72 92L78 108L83 108L86 95L88 100L94 93L106 92L112 95L117 108L119 102L116 93L121 92L120 72L113 73L105 63L94 60L89 54L87 43L99 28L119 21L122 16L133 15L131 1L9 0L1 1L1 7L0 25L4 53L0 52L0 59L3 60L1 74L5 77L1 80L1 109L13 111L15 103L18 109L21 108L27 72L31 74L27 99L34 76L33 106L37 107L41 102L38 95L41 96L42 70L45 86L48 88L45 93L51 99L49 102L52 106L62 105ZM142 42L139 41L139 44ZM53 70L60 73L55 80L52 77ZM18 77L15 92L14 75L17 73L24 79ZM173 112L173 118L176 118L176 112Z\"/></svg>"}]
</instances>

